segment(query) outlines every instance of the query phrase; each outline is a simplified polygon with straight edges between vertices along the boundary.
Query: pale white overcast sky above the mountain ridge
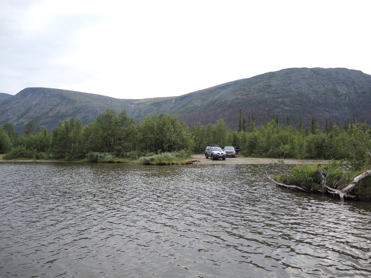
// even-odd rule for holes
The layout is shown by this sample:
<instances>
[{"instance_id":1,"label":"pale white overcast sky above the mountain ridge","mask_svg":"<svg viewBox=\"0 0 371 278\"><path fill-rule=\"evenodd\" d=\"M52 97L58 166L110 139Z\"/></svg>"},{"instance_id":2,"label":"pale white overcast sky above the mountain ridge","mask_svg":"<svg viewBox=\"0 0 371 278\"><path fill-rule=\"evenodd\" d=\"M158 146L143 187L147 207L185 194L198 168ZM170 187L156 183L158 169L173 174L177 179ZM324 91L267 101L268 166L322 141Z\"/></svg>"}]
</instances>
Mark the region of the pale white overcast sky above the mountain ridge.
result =
<instances>
[{"instance_id":1,"label":"pale white overcast sky above the mountain ridge","mask_svg":"<svg viewBox=\"0 0 371 278\"><path fill-rule=\"evenodd\" d=\"M0 0L0 92L178 96L289 67L371 74L371 1Z\"/></svg>"}]
</instances>

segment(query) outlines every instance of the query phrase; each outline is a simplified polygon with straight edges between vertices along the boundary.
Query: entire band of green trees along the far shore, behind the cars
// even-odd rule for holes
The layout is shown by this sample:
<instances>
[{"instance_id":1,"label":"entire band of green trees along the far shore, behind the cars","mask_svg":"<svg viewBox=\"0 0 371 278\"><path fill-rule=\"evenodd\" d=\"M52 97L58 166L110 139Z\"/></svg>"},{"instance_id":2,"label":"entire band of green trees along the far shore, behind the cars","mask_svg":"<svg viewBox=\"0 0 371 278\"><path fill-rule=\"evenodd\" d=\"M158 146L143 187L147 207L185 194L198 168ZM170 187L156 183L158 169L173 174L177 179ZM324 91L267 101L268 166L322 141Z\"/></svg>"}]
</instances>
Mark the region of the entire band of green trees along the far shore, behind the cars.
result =
<instances>
[{"instance_id":1,"label":"entire band of green trees along the far shore, behind the cars","mask_svg":"<svg viewBox=\"0 0 371 278\"><path fill-rule=\"evenodd\" d=\"M241 113L240 113L241 115ZM0 153L9 157L37 159L81 159L91 152L110 153L116 157L140 157L148 153L186 150L204 153L210 143L239 146L242 155L266 158L351 159L360 166L368 154L352 139L354 128L371 134L366 123L345 122L342 128L327 121L319 130L312 118L310 130L305 130L299 119L298 128L273 117L265 125L256 127L254 114L249 119L239 118L238 131L230 130L219 118L216 125L192 126L178 122L168 114L148 115L136 123L125 110L117 114L107 109L92 123L82 126L80 119L60 121L51 132L27 123L22 135L17 135L11 123L0 128Z\"/></svg>"}]
</instances>

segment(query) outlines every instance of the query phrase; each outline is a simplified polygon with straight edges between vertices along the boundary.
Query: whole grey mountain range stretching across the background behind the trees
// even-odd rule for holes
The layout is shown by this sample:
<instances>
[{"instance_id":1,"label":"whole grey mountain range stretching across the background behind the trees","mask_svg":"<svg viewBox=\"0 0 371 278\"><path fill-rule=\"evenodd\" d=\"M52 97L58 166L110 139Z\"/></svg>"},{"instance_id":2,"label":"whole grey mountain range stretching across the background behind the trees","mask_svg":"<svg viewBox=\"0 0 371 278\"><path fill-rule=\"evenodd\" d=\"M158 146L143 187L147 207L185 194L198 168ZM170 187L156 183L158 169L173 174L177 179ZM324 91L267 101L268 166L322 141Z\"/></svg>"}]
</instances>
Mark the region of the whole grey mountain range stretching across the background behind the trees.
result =
<instances>
[{"instance_id":1,"label":"whole grey mountain range stretching across the background behind the trees","mask_svg":"<svg viewBox=\"0 0 371 278\"><path fill-rule=\"evenodd\" d=\"M175 90L175 89L174 89ZM312 116L321 128L326 119L340 126L353 117L371 123L371 75L344 68L291 68L235 80L182 96L150 99L116 99L91 93L49 88L26 88L17 95L0 94L0 125L10 122L20 132L30 120L51 130L59 120L91 122L107 108L141 121L154 113L177 115L187 125L217 122L221 115L237 130L239 110L256 125L289 116L293 126L299 118L309 127Z\"/></svg>"}]
</instances>

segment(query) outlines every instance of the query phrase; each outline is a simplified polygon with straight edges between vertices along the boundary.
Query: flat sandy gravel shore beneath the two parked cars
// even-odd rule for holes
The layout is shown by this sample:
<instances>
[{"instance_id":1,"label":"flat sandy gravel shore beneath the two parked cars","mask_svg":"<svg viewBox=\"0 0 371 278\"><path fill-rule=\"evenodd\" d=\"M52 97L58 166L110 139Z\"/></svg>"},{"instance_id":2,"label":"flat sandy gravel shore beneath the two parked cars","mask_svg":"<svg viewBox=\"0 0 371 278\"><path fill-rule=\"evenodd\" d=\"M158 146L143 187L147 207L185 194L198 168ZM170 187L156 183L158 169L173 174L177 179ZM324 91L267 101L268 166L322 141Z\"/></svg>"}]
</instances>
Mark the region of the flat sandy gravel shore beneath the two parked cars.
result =
<instances>
[{"instance_id":1,"label":"flat sandy gravel shore beneath the two parked cars","mask_svg":"<svg viewBox=\"0 0 371 278\"><path fill-rule=\"evenodd\" d=\"M226 158L226 160L211 158L206 159L204 155L194 155L192 160L198 159L199 162L194 164L269 164L277 161L273 158L247 158L243 156L237 156L236 158ZM297 159L285 159L285 164L328 164L329 160L297 160Z\"/></svg>"}]
</instances>

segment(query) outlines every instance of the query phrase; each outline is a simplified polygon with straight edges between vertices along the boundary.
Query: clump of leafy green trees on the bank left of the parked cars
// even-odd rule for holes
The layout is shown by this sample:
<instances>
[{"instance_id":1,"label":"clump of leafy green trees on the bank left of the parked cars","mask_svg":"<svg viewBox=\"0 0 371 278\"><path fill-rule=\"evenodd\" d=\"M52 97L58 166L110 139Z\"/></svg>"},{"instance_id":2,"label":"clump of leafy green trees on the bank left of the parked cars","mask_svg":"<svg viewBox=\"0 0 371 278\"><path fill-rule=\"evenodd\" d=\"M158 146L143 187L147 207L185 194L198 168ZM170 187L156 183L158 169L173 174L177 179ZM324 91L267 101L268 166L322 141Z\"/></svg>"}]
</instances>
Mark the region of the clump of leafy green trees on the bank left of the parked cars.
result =
<instances>
[{"instance_id":1,"label":"clump of leafy green trees on the bank left of the parked cars","mask_svg":"<svg viewBox=\"0 0 371 278\"><path fill-rule=\"evenodd\" d=\"M51 132L43 127L37 130L33 121L19 136L10 123L0 128L0 153L13 157L72 160L91 152L128 157L133 152L140 156L183 149L193 150L190 130L168 114L146 116L136 124L125 110L117 114L107 109L84 127L80 119L71 118L59 121Z\"/></svg>"}]
</instances>

